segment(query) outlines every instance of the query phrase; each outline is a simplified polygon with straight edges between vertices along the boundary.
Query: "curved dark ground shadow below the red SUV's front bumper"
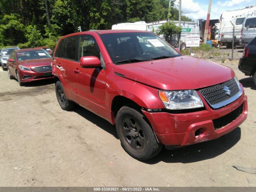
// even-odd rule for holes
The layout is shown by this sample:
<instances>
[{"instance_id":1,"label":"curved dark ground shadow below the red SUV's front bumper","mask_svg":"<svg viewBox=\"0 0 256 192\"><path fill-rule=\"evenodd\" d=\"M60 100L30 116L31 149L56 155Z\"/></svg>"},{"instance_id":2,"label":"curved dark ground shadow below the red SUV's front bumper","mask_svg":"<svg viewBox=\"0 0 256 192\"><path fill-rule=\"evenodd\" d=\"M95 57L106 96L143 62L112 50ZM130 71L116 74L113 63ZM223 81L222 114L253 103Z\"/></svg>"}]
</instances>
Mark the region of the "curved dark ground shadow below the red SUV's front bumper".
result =
<instances>
[{"instance_id":1,"label":"curved dark ground shadow below the red SUV's front bumper","mask_svg":"<svg viewBox=\"0 0 256 192\"><path fill-rule=\"evenodd\" d=\"M156 164L161 161L167 163L192 163L211 159L232 148L240 138L241 129L238 127L215 140L194 144L177 150L166 150L163 148L158 156L145 163Z\"/></svg>"}]
</instances>

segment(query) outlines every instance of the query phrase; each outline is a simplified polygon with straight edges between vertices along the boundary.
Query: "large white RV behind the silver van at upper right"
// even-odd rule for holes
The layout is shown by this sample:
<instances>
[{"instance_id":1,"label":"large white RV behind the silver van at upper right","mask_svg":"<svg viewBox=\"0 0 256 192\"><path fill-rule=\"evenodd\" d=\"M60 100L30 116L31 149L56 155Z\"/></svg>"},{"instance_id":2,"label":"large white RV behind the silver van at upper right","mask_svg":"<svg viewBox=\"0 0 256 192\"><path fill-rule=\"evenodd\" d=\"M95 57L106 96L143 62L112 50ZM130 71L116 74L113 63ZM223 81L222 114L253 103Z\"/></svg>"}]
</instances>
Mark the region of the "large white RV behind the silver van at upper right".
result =
<instances>
[{"instance_id":1,"label":"large white RV behind the silver van at upper right","mask_svg":"<svg viewBox=\"0 0 256 192\"><path fill-rule=\"evenodd\" d=\"M238 44L244 19L251 16L256 16L256 6L223 12L220 16L220 42L231 47L233 40L232 22L234 24L234 42Z\"/></svg>"}]
</instances>

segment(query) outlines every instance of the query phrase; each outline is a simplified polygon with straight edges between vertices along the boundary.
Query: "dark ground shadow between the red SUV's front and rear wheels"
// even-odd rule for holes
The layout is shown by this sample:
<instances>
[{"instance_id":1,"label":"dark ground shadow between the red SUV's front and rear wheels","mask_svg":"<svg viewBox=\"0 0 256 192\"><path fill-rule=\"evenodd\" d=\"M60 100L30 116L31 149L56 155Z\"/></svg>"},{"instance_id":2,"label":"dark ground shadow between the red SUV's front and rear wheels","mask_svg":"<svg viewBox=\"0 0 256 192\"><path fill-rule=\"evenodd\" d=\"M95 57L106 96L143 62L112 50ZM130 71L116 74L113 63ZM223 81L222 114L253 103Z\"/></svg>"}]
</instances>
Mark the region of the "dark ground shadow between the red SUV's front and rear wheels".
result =
<instances>
[{"instance_id":1,"label":"dark ground shadow between the red SUV's front and rear wheels","mask_svg":"<svg viewBox=\"0 0 256 192\"><path fill-rule=\"evenodd\" d=\"M81 106L76 106L73 111L82 116L83 118L87 119L88 121L92 122L94 125L97 125L102 130L108 132L109 134L112 134L116 139L118 139L116 127L110 124L110 122L86 110L85 108L82 108Z\"/></svg>"}]
</instances>

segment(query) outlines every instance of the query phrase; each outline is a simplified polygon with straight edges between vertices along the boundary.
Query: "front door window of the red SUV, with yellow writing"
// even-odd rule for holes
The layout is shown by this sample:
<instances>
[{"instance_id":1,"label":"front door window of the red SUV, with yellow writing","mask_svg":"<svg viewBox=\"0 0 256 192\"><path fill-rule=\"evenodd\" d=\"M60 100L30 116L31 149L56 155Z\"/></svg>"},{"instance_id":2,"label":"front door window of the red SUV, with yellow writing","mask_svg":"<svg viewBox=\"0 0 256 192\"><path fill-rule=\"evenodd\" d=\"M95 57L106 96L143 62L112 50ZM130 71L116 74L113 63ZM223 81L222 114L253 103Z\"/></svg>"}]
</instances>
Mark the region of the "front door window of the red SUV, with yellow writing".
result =
<instances>
[{"instance_id":1,"label":"front door window of the red SUV, with yellow writing","mask_svg":"<svg viewBox=\"0 0 256 192\"><path fill-rule=\"evenodd\" d=\"M84 56L95 56L100 59L100 49L92 37L82 36L80 39L79 58Z\"/></svg>"}]
</instances>

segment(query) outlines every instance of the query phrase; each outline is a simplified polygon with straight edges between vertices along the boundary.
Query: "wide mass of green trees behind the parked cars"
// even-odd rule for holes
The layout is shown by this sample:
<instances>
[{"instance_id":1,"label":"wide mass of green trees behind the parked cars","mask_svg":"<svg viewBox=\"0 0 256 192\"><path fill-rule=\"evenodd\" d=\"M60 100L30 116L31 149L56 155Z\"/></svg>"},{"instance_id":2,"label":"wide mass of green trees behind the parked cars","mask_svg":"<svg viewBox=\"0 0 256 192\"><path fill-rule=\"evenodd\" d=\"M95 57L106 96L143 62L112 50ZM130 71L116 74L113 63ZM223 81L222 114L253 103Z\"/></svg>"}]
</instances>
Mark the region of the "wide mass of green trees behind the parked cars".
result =
<instances>
[{"instance_id":1,"label":"wide mass of green trees behind the parked cars","mask_svg":"<svg viewBox=\"0 0 256 192\"><path fill-rule=\"evenodd\" d=\"M172 8L170 20L178 20ZM166 20L168 0L0 0L0 47L54 48L60 36L121 22ZM46 14L46 6L48 13ZM48 17L46 16L48 15ZM47 18L50 18L50 23ZM184 18L184 19L183 19ZM190 20L182 16L182 20ZM169 27L165 30L170 30ZM173 26L174 28L174 26Z\"/></svg>"}]
</instances>

